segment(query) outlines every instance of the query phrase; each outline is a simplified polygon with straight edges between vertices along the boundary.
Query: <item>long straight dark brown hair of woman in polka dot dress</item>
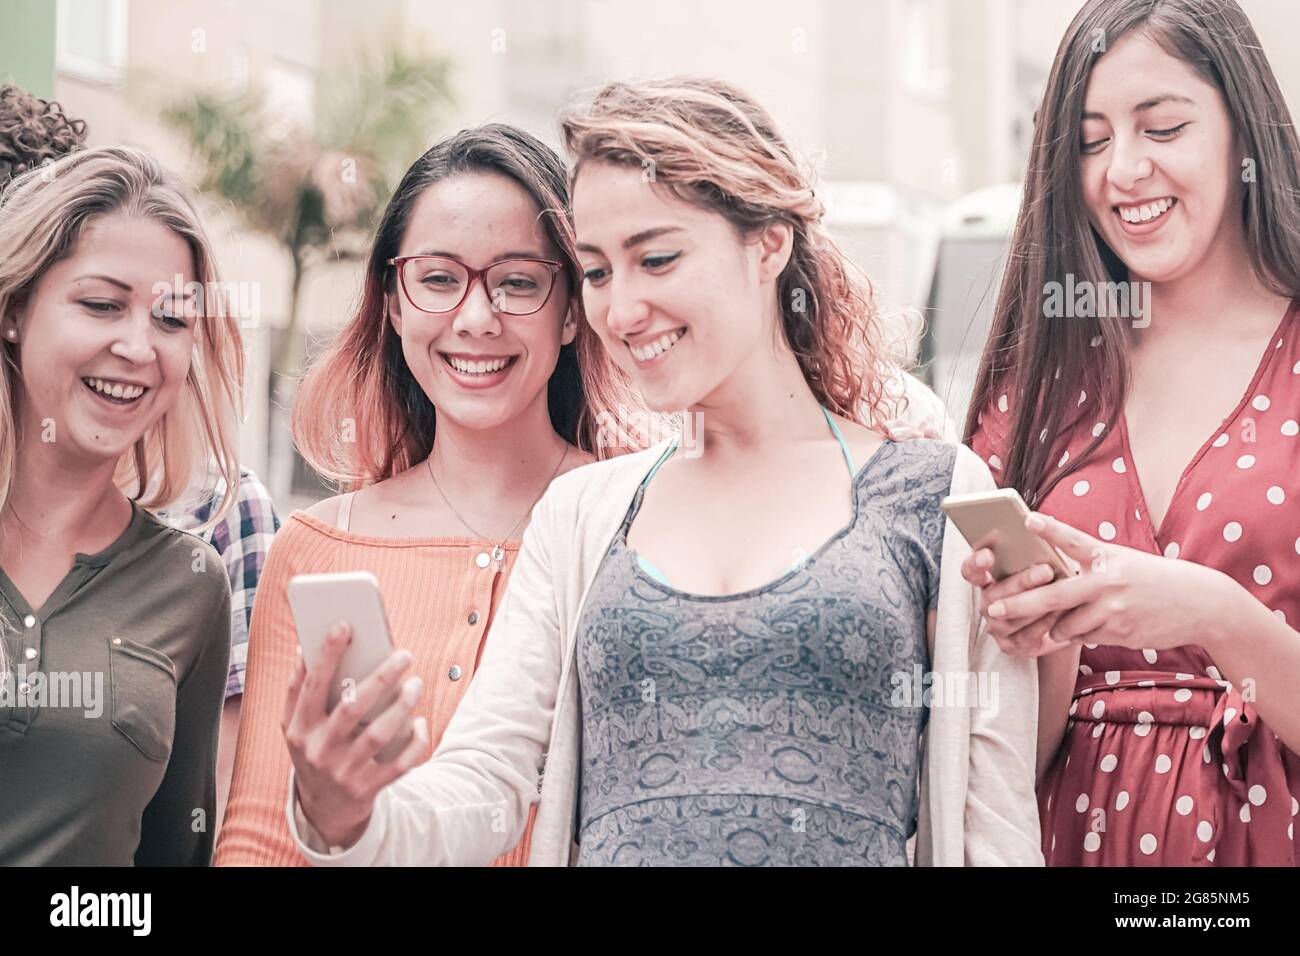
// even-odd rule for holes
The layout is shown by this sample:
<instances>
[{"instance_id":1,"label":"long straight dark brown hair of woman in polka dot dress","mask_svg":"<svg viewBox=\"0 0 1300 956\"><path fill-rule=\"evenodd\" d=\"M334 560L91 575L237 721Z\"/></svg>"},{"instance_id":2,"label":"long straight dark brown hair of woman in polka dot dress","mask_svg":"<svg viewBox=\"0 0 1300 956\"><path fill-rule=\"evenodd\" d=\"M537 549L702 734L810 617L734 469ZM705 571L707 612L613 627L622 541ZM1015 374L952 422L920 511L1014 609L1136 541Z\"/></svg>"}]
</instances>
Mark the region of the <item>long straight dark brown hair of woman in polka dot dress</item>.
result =
<instances>
[{"instance_id":1,"label":"long straight dark brown hair of woman in polka dot dress","mask_svg":"<svg viewBox=\"0 0 1300 956\"><path fill-rule=\"evenodd\" d=\"M1061 40L1036 113L1020 215L966 418L968 442L979 415L1014 389L1001 480L1031 506L1102 441L1098 434L1058 468L1052 442L1040 436L1070 425L1082 392L1100 399L1105 421L1118 418L1128 394L1126 320L1048 319L1044 290L1069 274L1076 285L1127 281L1124 264L1084 215L1079 124L1093 64L1134 30L1222 94L1243 159L1261 170L1242 198L1252 268L1271 291L1300 293L1300 140L1242 8L1234 0L1089 0Z\"/></svg>"}]
</instances>

